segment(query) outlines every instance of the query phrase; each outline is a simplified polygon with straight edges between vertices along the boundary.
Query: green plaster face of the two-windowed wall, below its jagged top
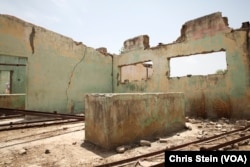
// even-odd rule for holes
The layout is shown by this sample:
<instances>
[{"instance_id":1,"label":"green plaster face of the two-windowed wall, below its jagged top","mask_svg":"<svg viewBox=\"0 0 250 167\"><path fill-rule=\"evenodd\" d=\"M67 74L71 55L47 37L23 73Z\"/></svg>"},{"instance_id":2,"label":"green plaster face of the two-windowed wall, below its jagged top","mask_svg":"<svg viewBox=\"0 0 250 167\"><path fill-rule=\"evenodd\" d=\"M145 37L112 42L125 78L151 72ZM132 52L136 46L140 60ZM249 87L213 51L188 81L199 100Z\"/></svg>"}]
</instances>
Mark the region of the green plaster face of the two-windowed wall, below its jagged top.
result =
<instances>
[{"instance_id":1,"label":"green plaster face of the two-windowed wall, below its jagged top","mask_svg":"<svg viewBox=\"0 0 250 167\"><path fill-rule=\"evenodd\" d=\"M199 111L207 116L221 116L217 111L230 110L234 116L242 116L240 111L247 108L246 101L249 101L249 50L247 46L246 31L219 32L213 36L206 36L198 40L189 40L180 43L163 45L159 48L140 51L130 51L124 55L114 57L114 73L119 73L119 66L133 64L145 60L152 60L153 76L147 82L129 82L117 84L119 80L114 78L115 92L134 92L135 85L143 85L144 92L184 92L186 95L186 113L197 115ZM178 56L190 56L201 53L216 51L226 52L228 69L225 74L175 77L169 78L168 59ZM212 65L212 64L211 64ZM180 67L181 68L181 67ZM132 85L132 86L131 86ZM215 96L216 92L220 97ZM206 99L208 100L206 103ZM239 100L242 99L242 105ZM216 109L213 105L219 104ZM222 105L220 105L222 104ZM216 111L217 110L217 111ZM218 114L218 115L216 115ZM250 113L245 116L250 117ZM226 115L228 116L228 115Z\"/></svg>"}]
</instances>

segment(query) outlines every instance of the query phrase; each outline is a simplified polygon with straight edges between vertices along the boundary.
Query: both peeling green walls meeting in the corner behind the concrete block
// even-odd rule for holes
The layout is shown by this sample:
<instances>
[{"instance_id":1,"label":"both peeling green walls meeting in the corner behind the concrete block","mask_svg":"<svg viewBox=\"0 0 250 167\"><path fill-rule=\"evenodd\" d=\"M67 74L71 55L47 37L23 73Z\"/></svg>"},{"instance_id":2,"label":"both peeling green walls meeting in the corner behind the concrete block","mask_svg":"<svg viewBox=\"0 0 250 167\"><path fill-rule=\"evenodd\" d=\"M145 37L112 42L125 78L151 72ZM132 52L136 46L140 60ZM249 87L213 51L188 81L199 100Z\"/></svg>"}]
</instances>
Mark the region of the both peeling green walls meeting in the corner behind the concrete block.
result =
<instances>
[{"instance_id":1,"label":"both peeling green walls meeting in the corner behind the concrete block","mask_svg":"<svg viewBox=\"0 0 250 167\"><path fill-rule=\"evenodd\" d=\"M0 15L0 61L19 59L27 64L0 66L0 70L15 71L14 80L19 81L13 90L26 93L30 110L82 112L86 93L184 92L186 114L250 117L250 35L246 29L229 29L219 15L219 25L204 18L208 20L199 21L202 26L187 22L193 31L183 31L179 42L130 51L112 60L71 38ZM209 31L194 31L195 26ZM228 64L225 75L169 78L170 58L221 50ZM119 82L119 66L148 60L154 70L149 80Z\"/></svg>"}]
</instances>

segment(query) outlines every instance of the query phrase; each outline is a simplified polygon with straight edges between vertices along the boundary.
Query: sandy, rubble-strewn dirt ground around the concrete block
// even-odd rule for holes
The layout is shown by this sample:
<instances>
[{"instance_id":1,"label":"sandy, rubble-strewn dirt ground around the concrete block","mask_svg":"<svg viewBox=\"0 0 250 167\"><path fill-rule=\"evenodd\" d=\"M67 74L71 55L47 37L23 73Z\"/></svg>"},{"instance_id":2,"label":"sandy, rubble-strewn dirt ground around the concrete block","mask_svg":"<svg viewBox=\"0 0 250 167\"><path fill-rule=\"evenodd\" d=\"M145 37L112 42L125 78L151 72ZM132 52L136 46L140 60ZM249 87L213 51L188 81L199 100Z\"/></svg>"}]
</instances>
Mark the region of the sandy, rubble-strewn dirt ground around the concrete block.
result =
<instances>
[{"instance_id":1,"label":"sandy, rubble-strewn dirt ground around the concrete block","mask_svg":"<svg viewBox=\"0 0 250 167\"><path fill-rule=\"evenodd\" d=\"M7 120L10 121L10 120ZM14 120L11 120L14 121ZM0 122L2 123L2 121ZM187 118L187 128L165 137L155 137L151 146L134 145L124 153L105 151L84 143L84 122L0 132L1 167L95 166L164 149L249 125L249 120L202 120ZM248 144L238 150L250 150ZM193 150L195 148L190 148Z\"/></svg>"}]
</instances>

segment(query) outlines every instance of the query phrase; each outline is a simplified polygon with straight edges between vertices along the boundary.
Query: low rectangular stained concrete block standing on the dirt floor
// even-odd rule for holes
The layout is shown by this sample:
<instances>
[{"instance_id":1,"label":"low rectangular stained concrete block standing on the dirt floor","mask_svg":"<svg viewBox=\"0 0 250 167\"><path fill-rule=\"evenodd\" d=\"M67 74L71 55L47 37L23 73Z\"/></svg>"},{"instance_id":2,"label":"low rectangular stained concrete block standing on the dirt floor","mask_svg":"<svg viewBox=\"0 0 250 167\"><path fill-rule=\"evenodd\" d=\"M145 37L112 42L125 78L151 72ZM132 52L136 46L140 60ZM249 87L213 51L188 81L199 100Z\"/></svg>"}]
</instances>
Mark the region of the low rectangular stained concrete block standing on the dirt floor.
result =
<instances>
[{"instance_id":1,"label":"low rectangular stained concrete block standing on the dirt floor","mask_svg":"<svg viewBox=\"0 0 250 167\"><path fill-rule=\"evenodd\" d=\"M88 94L85 140L113 149L183 129L183 93Z\"/></svg>"}]
</instances>

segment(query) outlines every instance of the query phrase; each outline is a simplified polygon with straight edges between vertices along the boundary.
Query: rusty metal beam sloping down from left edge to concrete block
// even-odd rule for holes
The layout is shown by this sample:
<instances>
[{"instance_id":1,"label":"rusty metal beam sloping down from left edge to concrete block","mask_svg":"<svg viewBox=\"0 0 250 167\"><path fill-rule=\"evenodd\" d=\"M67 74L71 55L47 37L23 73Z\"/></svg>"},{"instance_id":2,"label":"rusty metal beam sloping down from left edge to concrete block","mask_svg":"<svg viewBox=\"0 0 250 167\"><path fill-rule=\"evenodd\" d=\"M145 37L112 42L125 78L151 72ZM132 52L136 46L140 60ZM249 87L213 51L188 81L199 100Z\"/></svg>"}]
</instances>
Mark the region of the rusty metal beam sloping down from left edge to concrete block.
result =
<instances>
[{"instance_id":1,"label":"rusty metal beam sloping down from left edge to concrete block","mask_svg":"<svg viewBox=\"0 0 250 167\"><path fill-rule=\"evenodd\" d=\"M78 116L72 114L59 114L56 112L50 113L50 112L33 111L33 110L9 109L9 108L0 108L0 113L4 114L14 113L14 114L34 115L42 117L57 117L57 118L85 120L85 116Z\"/></svg>"}]
</instances>

